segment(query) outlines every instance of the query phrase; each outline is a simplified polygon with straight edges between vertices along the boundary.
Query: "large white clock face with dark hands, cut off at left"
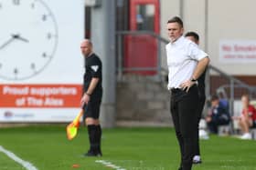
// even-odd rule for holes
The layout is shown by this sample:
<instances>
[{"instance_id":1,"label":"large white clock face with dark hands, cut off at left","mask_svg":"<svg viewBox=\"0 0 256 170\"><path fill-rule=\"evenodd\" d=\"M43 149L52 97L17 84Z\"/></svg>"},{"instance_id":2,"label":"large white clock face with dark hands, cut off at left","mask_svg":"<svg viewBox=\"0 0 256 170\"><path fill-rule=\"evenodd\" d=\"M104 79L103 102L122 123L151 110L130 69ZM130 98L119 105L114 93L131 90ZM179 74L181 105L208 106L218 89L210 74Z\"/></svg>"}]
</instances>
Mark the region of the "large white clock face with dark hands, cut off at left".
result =
<instances>
[{"instance_id":1,"label":"large white clock face with dark hands, cut off at left","mask_svg":"<svg viewBox=\"0 0 256 170\"><path fill-rule=\"evenodd\" d=\"M22 80L49 64L58 44L54 15L42 0L0 0L0 78Z\"/></svg>"}]
</instances>

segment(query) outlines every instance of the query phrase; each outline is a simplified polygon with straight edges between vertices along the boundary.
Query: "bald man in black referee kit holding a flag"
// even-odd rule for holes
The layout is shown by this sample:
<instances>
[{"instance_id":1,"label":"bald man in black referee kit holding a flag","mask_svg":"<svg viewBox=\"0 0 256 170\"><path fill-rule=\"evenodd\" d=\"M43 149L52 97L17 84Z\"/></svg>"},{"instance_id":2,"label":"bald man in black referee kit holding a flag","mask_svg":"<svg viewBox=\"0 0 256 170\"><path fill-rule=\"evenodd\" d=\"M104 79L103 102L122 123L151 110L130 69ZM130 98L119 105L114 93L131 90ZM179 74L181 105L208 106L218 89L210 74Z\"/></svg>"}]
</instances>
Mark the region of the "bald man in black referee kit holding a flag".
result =
<instances>
[{"instance_id":1,"label":"bald man in black referee kit holding a flag","mask_svg":"<svg viewBox=\"0 0 256 170\"><path fill-rule=\"evenodd\" d=\"M83 95L80 104L84 109L85 124L88 128L90 149L85 156L101 156L101 125L99 121L102 98L102 64L99 56L92 51L91 40L85 39L80 45L85 57Z\"/></svg>"}]
</instances>

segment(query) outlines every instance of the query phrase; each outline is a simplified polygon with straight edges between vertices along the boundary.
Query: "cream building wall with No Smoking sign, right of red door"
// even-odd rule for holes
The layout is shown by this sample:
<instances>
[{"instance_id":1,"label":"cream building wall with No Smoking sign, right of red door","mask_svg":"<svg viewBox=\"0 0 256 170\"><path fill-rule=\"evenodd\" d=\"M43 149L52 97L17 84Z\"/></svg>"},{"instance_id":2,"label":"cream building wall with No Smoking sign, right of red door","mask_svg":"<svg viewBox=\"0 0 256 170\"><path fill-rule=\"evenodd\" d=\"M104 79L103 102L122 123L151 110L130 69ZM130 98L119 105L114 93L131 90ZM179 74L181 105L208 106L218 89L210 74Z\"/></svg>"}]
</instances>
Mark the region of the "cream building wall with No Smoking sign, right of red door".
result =
<instances>
[{"instance_id":1,"label":"cream building wall with No Smoking sign, right of red door","mask_svg":"<svg viewBox=\"0 0 256 170\"><path fill-rule=\"evenodd\" d=\"M196 31L200 35L200 46L210 55L211 65L256 85L252 80L256 74L256 23L251 20L251 16L256 14L255 1L160 0L160 3L162 36L166 37L168 18L181 16L186 31ZM238 53L243 57L223 58L225 55L219 53L223 53L221 48L225 43L233 48L233 55ZM235 50L235 45L240 45L243 50Z\"/></svg>"}]
</instances>

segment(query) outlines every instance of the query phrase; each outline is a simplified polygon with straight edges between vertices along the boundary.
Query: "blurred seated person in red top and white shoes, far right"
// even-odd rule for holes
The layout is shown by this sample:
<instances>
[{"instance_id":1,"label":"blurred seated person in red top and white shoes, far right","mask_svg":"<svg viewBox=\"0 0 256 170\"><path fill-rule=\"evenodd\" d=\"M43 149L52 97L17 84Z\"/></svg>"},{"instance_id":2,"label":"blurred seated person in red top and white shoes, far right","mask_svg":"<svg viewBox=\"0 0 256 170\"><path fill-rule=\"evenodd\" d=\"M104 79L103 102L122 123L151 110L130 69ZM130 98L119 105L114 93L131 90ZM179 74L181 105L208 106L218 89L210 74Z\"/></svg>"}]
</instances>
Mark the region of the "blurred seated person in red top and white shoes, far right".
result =
<instances>
[{"instance_id":1,"label":"blurred seated person in red top and white shoes, far right","mask_svg":"<svg viewBox=\"0 0 256 170\"><path fill-rule=\"evenodd\" d=\"M242 112L240 116L234 116L234 120L239 121L240 130L242 134L241 139L251 139L250 128L256 127L256 109L253 105L250 105L249 95L241 96Z\"/></svg>"}]
</instances>

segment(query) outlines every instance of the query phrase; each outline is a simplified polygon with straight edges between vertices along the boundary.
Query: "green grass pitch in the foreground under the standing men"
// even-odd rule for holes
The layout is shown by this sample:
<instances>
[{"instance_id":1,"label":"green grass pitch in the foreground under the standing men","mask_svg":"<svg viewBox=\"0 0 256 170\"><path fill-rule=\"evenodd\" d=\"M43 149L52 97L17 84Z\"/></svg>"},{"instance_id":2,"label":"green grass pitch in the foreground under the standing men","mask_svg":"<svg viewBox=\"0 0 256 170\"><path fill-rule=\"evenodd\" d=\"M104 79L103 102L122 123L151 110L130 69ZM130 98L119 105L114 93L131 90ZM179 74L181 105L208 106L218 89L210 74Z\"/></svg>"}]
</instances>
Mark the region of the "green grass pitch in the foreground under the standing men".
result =
<instances>
[{"instance_id":1,"label":"green grass pitch in the foreground under the standing men","mask_svg":"<svg viewBox=\"0 0 256 170\"><path fill-rule=\"evenodd\" d=\"M39 170L176 170L179 164L172 128L105 129L103 156L96 158L82 156L89 146L84 127L72 141L64 125L0 128L0 146L1 170L26 169L3 149ZM201 141L201 153L203 164L194 170L256 170L256 141L211 135Z\"/></svg>"}]
</instances>

